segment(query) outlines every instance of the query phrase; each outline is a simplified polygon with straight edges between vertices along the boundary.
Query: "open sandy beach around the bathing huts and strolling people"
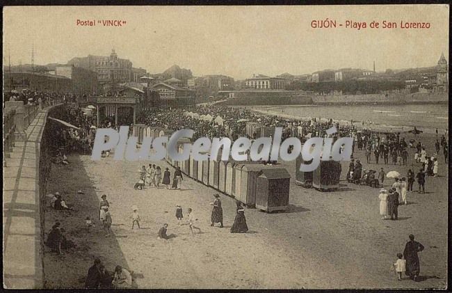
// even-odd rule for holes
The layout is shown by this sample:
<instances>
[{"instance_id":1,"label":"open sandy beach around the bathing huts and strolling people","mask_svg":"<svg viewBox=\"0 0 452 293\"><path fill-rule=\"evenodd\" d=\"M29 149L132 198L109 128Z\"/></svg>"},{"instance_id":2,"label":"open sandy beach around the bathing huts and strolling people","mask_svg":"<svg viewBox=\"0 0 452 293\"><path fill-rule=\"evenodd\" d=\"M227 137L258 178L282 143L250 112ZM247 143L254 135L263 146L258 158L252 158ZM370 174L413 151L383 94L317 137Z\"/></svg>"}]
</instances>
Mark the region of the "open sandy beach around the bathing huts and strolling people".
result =
<instances>
[{"instance_id":1,"label":"open sandy beach around the bathing huts and strolling people","mask_svg":"<svg viewBox=\"0 0 452 293\"><path fill-rule=\"evenodd\" d=\"M405 136L410 139L410 136ZM421 136L433 150L433 136ZM408 166L365 163L364 151L355 152L364 168L385 168L406 174ZM413 149L410 150L409 167ZM439 155L440 177L428 177L425 194L408 193L408 205L398 209L399 220L381 220L378 189L345 181L334 192L304 189L294 184L294 161L282 162L291 173L290 207L285 213L267 214L246 209L250 232L231 234L235 200L221 194L225 228L210 227L214 189L185 178L183 190L134 190L140 165L112 157L91 161L71 155L70 165L53 165L50 191L60 191L72 212L47 208L45 230L60 221L77 247L64 255L46 248L46 287L81 288L95 257L113 270L120 264L134 271L139 288L444 288L447 265L447 174ZM145 162L148 164L148 162ZM163 169L166 162L156 162ZM173 169L170 167L171 173ZM389 187L393 180L385 180ZM417 184L414 184L415 189ZM82 190L84 194L76 191ZM105 237L98 221L102 194L108 196L113 235ZM131 230L131 207L139 207L141 229ZM193 237L188 226L177 224L175 205L186 216L191 207L202 233ZM86 230L90 216L95 227ZM170 240L156 233L168 223ZM421 282L398 281L389 271L396 253L403 252L408 234L416 235L426 249L419 253Z\"/></svg>"}]
</instances>

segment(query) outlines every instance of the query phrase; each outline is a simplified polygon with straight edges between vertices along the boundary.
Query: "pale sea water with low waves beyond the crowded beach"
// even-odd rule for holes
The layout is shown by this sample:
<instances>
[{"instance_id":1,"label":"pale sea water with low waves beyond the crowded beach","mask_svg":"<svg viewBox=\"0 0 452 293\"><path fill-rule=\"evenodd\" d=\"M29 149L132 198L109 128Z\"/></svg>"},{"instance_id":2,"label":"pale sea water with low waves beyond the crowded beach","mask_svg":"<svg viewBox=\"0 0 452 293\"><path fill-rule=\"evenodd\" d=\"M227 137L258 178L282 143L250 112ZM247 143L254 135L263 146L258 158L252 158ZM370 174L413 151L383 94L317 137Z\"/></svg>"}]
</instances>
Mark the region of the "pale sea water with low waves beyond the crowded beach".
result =
<instances>
[{"instance_id":1,"label":"pale sea water with low waves beyond the crowded beach","mask_svg":"<svg viewBox=\"0 0 452 293\"><path fill-rule=\"evenodd\" d=\"M414 127L423 132L444 133L449 128L449 106L447 104L405 104L405 105L357 105L357 106L315 106L283 105L252 106L247 109L257 110L269 115L286 118L309 119L332 118L340 124L371 125L373 129L407 131ZM371 121L371 124L367 122Z\"/></svg>"}]
</instances>

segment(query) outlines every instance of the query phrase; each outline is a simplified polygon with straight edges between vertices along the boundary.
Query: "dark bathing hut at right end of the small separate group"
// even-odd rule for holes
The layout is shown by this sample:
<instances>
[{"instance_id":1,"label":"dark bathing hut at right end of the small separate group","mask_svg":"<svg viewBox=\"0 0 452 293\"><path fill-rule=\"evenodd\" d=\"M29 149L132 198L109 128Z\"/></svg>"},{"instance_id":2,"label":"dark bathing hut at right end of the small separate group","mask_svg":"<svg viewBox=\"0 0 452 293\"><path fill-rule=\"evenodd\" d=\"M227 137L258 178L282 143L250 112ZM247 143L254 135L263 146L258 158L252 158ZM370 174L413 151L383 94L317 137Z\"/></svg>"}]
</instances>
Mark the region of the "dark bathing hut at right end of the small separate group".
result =
<instances>
[{"instance_id":1,"label":"dark bathing hut at right end of the small separate group","mask_svg":"<svg viewBox=\"0 0 452 293\"><path fill-rule=\"evenodd\" d=\"M339 187L340 161L320 161L312 174L312 187L320 191L332 191Z\"/></svg>"}]
</instances>

